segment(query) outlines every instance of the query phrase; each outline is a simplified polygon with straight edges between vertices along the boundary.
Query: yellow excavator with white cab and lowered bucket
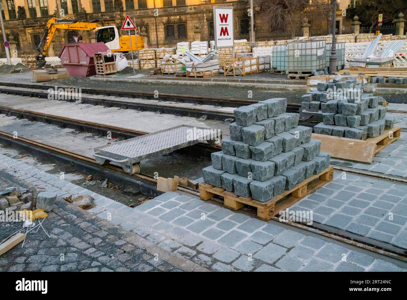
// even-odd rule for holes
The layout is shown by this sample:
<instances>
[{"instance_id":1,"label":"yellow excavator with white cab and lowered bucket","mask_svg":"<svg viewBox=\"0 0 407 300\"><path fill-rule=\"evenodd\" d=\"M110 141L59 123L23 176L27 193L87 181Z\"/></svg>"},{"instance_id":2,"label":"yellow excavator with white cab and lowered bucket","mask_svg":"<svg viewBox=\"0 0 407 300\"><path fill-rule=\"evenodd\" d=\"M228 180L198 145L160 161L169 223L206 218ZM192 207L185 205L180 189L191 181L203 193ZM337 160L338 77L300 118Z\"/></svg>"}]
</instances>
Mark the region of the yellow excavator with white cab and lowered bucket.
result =
<instances>
[{"instance_id":1,"label":"yellow excavator with white cab and lowered bucket","mask_svg":"<svg viewBox=\"0 0 407 300\"><path fill-rule=\"evenodd\" d=\"M120 31L116 26L103 26L101 21L95 20L92 22L79 21L79 20L66 20L50 18L45 25L44 35L37 46L38 55L36 57L37 70L33 70L33 82L48 81L52 79L68 78L69 73L66 68L56 68L47 65L45 57L50 48L55 31L57 29L70 29L70 30L92 30L96 33L96 42L103 42L112 52L127 53L131 50L143 49L144 42L140 35L123 35L120 36Z\"/></svg>"}]
</instances>

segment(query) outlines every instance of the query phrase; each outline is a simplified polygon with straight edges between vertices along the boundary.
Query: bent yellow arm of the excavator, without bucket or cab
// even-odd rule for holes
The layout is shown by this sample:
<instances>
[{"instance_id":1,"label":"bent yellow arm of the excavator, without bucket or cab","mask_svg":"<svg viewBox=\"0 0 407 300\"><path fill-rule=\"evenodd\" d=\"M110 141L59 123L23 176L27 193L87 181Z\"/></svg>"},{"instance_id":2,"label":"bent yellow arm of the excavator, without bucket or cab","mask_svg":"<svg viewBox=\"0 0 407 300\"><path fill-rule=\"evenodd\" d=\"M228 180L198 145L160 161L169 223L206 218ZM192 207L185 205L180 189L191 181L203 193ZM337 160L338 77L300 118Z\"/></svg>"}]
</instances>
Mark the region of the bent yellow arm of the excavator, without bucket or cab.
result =
<instances>
[{"instance_id":1,"label":"bent yellow arm of the excavator, without bucket or cab","mask_svg":"<svg viewBox=\"0 0 407 300\"><path fill-rule=\"evenodd\" d=\"M45 66L45 57L50 48L52 39L57 29L71 29L71 30L92 30L96 31L96 28L103 26L102 22L96 20L94 22L85 22L79 20L66 20L50 18L45 25L44 35L41 38L39 45L37 46L37 66L43 68Z\"/></svg>"}]
</instances>

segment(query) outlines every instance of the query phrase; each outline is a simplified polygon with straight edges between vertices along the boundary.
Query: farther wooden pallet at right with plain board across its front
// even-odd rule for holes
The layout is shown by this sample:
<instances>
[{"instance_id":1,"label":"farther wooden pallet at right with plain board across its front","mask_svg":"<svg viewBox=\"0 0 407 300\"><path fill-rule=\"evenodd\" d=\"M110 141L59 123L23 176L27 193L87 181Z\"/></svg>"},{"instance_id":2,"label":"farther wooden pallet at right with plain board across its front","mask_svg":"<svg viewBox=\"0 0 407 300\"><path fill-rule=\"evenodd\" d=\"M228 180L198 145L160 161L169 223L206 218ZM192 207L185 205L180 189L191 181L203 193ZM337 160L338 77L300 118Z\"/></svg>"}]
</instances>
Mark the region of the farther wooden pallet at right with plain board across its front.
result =
<instances>
[{"instance_id":1,"label":"farther wooden pallet at right with plain board across its front","mask_svg":"<svg viewBox=\"0 0 407 300\"><path fill-rule=\"evenodd\" d=\"M400 137L400 127L386 129L378 137L368 139L348 139L346 137L333 137L330 135L312 134L312 139L321 141L321 151L328 152L332 158L372 163L374 154L393 143Z\"/></svg>"}]
</instances>

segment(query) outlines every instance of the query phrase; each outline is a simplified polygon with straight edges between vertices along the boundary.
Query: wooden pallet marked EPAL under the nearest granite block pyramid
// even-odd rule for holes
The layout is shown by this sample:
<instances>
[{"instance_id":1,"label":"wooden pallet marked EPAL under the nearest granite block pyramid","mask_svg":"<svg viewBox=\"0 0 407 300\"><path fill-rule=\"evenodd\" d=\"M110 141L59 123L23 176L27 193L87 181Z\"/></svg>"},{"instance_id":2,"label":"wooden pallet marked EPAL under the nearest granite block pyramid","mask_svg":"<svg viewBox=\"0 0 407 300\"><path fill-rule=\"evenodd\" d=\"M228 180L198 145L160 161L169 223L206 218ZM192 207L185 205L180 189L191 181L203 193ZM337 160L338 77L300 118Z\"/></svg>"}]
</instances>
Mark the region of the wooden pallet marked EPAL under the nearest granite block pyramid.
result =
<instances>
[{"instance_id":1,"label":"wooden pallet marked EPAL under the nearest granite block pyramid","mask_svg":"<svg viewBox=\"0 0 407 300\"><path fill-rule=\"evenodd\" d=\"M215 195L223 197L223 205L231 210L239 210L244 205L257 208L257 218L268 221L278 215L294 203L300 201L323 185L333 180L333 167L329 166L319 174L315 174L295 185L291 190L284 190L280 195L275 196L267 202L260 202L250 198L243 198L228 192L223 188L217 188L208 183L199 183L199 197L202 200L209 200Z\"/></svg>"}]
</instances>

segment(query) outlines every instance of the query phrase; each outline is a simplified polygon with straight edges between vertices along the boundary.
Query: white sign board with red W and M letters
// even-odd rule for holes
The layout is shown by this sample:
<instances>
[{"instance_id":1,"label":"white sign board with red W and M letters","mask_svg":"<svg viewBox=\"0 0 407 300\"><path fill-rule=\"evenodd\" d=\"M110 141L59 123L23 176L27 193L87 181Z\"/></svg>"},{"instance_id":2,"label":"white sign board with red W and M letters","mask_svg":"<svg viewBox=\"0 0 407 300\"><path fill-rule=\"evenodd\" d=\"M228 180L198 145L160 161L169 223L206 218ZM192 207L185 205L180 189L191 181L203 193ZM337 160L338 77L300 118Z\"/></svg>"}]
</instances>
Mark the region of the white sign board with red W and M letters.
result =
<instances>
[{"instance_id":1,"label":"white sign board with red W and M letters","mask_svg":"<svg viewBox=\"0 0 407 300\"><path fill-rule=\"evenodd\" d=\"M233 47L233 7L213 7L215 47Z\"/></svg>"}]
</instances>

